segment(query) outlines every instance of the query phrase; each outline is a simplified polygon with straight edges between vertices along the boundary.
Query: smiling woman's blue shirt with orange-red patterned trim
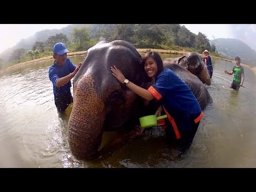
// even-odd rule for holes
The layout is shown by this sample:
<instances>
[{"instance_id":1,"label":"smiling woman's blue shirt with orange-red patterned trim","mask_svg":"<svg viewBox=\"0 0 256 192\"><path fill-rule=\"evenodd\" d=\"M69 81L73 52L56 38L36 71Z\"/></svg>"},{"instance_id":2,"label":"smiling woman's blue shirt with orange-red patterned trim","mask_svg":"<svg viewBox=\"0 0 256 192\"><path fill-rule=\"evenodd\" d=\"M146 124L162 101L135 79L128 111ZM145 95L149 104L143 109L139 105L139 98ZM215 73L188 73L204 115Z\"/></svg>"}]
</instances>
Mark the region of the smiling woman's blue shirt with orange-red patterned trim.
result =
<instances>
[{"instance_id":1,"label":"smiling woman's blue shirt with orange-red patterned trim","mask_svg":"<svg viewBox=\"0 0 256 192\"><path fill-rule=\"evenodd\" d=\"M150 86L148 91L162 103L177 139L181 138L179 129L187 128L177 127L176 122L192 119L198 123L203 117L202 109L194 93L169 68L164 69L157 76L155 84Z\"/></svg>"}]
</instances>

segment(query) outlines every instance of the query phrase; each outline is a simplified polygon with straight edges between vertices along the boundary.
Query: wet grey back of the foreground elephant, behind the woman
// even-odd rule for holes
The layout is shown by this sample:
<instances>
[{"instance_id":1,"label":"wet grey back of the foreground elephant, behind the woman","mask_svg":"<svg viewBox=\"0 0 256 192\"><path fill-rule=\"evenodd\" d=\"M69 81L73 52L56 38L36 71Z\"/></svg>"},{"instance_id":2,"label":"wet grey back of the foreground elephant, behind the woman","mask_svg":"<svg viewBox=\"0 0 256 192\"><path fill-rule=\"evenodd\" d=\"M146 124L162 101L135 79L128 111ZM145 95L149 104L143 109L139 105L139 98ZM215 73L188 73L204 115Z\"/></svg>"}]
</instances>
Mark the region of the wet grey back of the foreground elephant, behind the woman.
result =
<instances>
[{"instance_id":1,"label":"wet grey back of the foreground elephant, behind the woman","mask_svg":"<svg viewBox=\"0 0 256 192\"><path fill-rule=\"evenodd\" d=\"M209 103L212 103L210 93L197 76L191 74L187 69L177 65L176 63L164 61L164 65L167 66L167 68L172 69L174 73L177 74L182 81L189 86L202 110L205 109Z\"/></svg>"}]
</instances>

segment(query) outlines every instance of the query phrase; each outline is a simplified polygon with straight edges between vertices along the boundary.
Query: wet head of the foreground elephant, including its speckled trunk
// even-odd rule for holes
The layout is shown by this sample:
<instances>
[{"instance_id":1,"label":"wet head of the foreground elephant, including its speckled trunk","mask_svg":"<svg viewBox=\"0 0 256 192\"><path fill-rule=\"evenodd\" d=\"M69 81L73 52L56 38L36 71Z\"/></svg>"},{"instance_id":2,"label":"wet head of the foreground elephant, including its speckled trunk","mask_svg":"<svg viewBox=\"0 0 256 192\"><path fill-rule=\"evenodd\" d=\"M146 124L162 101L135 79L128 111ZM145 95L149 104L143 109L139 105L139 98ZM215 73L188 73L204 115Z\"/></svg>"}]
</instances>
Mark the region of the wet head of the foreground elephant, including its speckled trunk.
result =
<instances>
[{"instance_id":1,"label":"wet head of the foreground elephant, including its speckled trunk","mask_svg":"<svg viewBox=\"0 0 256 192\"><path fill-rule=\"evenodd\" d=\"M116 130L137 119L138 95L119 83L110 66L115 65L134 84L150 81L141 55L125 41L102 41L91 47L74 77L74 103L68 122L71 153L86 158L97 153L103 131Z\"/></svg>"}]
</instances>

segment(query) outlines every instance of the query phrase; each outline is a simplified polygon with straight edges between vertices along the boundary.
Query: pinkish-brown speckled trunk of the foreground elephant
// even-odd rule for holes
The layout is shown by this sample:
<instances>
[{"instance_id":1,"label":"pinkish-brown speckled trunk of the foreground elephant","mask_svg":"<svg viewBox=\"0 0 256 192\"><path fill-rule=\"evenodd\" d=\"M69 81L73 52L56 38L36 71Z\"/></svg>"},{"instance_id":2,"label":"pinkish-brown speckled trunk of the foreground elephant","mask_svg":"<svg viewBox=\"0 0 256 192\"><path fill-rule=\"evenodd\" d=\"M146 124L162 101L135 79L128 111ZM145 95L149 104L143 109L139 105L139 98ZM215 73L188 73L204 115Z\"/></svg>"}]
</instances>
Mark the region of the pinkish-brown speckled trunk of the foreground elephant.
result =
<instances>
[{"instance_id":1,"label":"pinkish-brown speckled trunk of the foreground elephant","mask_svg":"<svg viewBox=\"0 0 256 192\"><path fill-rule=\"evenodd\" d=\"M89 78L89 77L88 77ZM73 110L68 122L68 142L71 153L78 159L99 150L105 115L104 103L93 88L93 81L78 82L74 87Z\"/></svg>"}]
</instances>

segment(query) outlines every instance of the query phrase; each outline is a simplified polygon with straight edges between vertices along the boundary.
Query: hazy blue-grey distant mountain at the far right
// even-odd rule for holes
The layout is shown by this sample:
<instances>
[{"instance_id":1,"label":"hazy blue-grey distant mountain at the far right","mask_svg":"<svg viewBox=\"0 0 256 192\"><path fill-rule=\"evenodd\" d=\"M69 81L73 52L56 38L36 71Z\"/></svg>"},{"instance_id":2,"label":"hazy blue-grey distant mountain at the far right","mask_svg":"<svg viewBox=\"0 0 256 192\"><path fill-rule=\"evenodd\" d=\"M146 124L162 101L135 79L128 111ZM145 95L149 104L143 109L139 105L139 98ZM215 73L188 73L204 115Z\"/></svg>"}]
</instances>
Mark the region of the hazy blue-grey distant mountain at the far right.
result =
<instances>
[{"instance_id":1,"label":"hazy blue-grey distant mountain at the far right","mask_svg":"<svg viewBox=\"0 0 256 192\"><path fill-rule=\"evenodd\" d=\"M210 40L210 44L214 44L223 57L234 60L239 56L242 63L256 67L256 51L242 41L234 38L217 38Z\"/></svg>"}]
</instances>

